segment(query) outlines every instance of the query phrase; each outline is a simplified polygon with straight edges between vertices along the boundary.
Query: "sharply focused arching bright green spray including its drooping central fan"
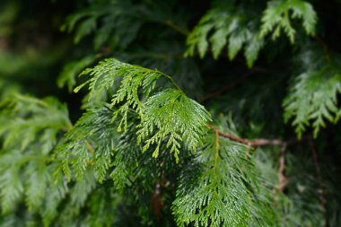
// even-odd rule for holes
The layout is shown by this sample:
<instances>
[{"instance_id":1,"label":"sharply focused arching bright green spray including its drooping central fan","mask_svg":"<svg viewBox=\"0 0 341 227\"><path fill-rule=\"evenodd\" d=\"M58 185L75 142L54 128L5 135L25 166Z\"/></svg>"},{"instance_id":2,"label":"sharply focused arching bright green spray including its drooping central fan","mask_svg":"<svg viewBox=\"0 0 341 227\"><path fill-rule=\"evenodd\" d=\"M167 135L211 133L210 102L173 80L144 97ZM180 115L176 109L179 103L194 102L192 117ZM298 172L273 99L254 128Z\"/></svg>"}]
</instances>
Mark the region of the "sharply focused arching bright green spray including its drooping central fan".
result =
<instances>
[{"instance_id":1,"label":"sharply focused arching bright green spray including its drooping central fan","mask_svg":"<svg viewBox=\"0 0 341 227\"><path fill-rule=\"evenodd\" d=\"M89 84L89 99L112 90L118 77L121 79L110 105L111 108L118 108L113 113L113 120L119 115L121 118L118 132L126 131L128 113L132 110L136 112L140 119L137 126L137 143L144 144L143 151L155 144L153 157L159 155L163 141L167 141L166 148L170 148L170 153L174 153L177 162L180 148L183 146L181 143L186 144L193 152L202 144L206 123L211 120L210 115L204 107L190 100L169 75L122 63L114 58L86 69L83 74L90 74L92 78L74 91L78 92L84 85ZM168 80L175 88L153 92L161 78Z\"/></svg>"}]
</instances>

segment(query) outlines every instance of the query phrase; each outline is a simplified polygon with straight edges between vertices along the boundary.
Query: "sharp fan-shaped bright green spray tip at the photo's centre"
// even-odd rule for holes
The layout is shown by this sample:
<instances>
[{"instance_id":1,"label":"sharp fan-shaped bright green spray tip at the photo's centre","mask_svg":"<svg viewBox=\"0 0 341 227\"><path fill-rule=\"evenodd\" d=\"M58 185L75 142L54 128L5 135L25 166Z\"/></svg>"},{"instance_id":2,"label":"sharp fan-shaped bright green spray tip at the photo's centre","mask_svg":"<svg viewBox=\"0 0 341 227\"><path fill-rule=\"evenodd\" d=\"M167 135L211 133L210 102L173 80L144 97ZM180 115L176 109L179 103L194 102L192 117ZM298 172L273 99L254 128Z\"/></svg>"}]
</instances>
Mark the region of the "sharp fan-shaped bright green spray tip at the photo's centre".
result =
<instances>
[{"instance_id":1,"label":"sharp fan-shaped bright green spray tip at the photo's centre","mask_svg":"<svg viewBox=\"0 0 341 227\"><path fill-rule=\"evenodd\" d=\"M180 143L183 142L190 151L195 152L197 146L202 144L205 123L210 119L203 106L175 89L158 92L146 100L143 117L138 126L140 130L137 131L138 143L145 140L143 150L156 144L153 157L157 157L161 142L166 139L166 147L170 147L170 153L174 153L177 162ZM148 138L150 135L153 136Z\"/></svg>"}]
</instances>

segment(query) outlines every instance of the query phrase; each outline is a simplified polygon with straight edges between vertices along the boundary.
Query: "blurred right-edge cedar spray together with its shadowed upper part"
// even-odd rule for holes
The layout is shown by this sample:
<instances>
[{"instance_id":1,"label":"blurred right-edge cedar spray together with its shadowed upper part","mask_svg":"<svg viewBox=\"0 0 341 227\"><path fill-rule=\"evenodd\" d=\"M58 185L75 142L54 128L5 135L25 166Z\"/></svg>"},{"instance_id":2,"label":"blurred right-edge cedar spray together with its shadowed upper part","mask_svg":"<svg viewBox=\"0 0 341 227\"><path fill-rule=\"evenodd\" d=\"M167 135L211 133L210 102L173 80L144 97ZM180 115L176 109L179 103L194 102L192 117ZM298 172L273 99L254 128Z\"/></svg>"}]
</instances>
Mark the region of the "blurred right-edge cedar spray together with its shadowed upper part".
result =
<instances>
[{"instance_id":1,"label":"blurred right-edge cedar spray together with its shadowed upper part","mask_svg":"<svg viewBox=\"0 0 341 227\"><path fill-rule=\"evenodd\" d=\"M336 123L341 116L341 109L337 107L337 94L341 92L340 63L325 55L319 49L302 53L300 63L305 72L295 78L284 100L284 121L293 118L299 138L310 126L316 137L320 127L326 126L326 119Z\"/></svg>"}]
</instances>

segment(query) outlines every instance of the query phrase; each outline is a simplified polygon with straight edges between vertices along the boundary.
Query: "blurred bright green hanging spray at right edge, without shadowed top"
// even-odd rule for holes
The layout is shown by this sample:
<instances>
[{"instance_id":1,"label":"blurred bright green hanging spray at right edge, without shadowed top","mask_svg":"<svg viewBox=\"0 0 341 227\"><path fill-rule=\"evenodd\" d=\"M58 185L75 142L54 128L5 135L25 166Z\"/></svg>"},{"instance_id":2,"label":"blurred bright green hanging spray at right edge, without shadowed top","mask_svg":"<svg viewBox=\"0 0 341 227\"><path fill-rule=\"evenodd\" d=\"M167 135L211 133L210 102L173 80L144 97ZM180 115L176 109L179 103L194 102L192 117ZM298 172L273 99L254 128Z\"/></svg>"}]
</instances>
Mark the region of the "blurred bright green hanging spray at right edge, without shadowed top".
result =
<instances>
[{"instance_id":1,"label":"blurred bright green hanging spray at right edge, without shadowed top","mask_svg":"<svg viewBox=\"0 0 341 227\"><path fill-rule=\"evenodd\" d=\"M338 118L337 93L341 92L341 74L333 75L328 71L300 74L284 100L284 120L288 122L293 118L293 127L300 138L310 126L310 120L316 137L320 127L325 127L325 119L334 122Z\"/></svg>"}]
</instances>

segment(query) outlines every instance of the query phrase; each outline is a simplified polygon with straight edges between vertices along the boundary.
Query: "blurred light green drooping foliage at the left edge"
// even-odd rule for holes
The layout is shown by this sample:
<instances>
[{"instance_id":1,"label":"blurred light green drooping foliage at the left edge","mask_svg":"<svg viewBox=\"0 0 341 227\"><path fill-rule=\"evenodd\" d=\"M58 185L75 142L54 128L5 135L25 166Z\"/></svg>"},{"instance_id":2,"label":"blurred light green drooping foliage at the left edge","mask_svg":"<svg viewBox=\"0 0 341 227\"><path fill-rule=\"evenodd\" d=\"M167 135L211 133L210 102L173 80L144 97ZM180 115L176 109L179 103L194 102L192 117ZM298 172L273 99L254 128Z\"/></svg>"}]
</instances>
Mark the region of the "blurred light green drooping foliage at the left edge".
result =
<instances>
[{"instance_id":1,"label":"blurred light green drooping foliage at the left edge","mask_svg":"<svg viewBox=\"0 0 341 227\"><path fill-rule=\"evenodd\" d=\"M53 98L15 95L1 105L1 207L11 214L24 202L31 212L56 216L66 188L54 184L49 154L70 127L66 105ZM49 195L49 196L48 196Z\"/></svg>"}]
</instances>

